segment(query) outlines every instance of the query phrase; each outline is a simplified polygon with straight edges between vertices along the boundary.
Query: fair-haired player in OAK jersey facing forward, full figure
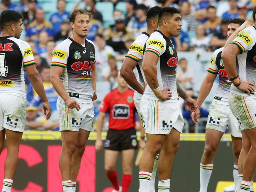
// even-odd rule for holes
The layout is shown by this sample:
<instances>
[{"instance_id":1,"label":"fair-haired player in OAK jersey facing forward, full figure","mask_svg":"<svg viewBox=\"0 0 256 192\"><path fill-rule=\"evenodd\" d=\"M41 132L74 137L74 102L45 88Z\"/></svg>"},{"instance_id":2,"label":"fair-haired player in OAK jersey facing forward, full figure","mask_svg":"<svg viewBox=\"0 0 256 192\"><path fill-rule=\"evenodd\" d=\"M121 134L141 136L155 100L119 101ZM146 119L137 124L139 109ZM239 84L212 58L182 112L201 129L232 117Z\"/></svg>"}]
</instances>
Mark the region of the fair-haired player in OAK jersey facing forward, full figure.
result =
<instances>
[{"instance_id":1,"label":"fair-haired player in OAK jersey facing forward, full figure","mask_svg":"<svg viewBox=\"0 0 256 192\"><path fill-rule=\"evenodd\" d=\"M97 99L95 47L86 39L90 13L74 9L69 16L73 35L53 50L51 82L59 94L58 119L62 136L60 171L65 191L74 191L80 162L93 131L92 101Z\"/></svg>"}]
</instances>

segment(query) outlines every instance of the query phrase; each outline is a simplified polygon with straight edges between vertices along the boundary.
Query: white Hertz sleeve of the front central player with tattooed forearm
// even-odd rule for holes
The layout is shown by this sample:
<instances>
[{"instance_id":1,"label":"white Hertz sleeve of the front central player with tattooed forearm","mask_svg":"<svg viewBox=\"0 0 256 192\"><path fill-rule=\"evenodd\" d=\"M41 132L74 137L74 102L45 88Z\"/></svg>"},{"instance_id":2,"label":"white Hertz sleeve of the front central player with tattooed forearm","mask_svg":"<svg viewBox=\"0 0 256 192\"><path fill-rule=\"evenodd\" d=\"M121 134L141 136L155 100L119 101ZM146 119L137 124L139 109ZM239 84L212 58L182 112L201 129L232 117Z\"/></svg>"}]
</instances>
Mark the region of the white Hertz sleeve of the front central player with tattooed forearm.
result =
<instances>
[{"instance_id":1,"label":"white Hertz sleeve of the front central player with tattooed forearm","mask_svg":"<svg viewBox=\"0 0 256 192\"><path fill-rule=\"evenodd\" d=\"M155 53L159 58L163 54L166 48L166 41L164 40L163 36L153 33L150 35L146 42L146 51L150 51Z\"/></svg>"}]
</instances>

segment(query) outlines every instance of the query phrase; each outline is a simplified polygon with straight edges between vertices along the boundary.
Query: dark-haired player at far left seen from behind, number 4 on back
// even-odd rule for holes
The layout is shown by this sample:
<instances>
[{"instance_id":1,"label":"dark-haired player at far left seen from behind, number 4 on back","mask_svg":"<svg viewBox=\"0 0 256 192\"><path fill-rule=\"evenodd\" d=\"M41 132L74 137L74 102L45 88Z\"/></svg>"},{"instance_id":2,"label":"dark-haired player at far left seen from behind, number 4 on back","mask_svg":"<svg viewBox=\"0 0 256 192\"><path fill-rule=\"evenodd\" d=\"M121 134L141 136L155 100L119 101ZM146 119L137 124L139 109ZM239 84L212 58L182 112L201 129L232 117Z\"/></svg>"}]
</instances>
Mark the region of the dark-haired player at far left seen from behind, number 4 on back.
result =
<instances>
[{"instance_id":1,"label":"dark-haired player at far left seen from behind, number 4 on back","mask_svg":"<svg viewBox=\"0 0 256 192\"><path fill-rule=\"evenodd\" d=\"M19 144L25 127L26 91L24 69L33 88L43 100L46 119L51 108L47 101L41 76L36 69L32 50L28 43L20 40L23 16L13 10L0 15L0 153L6 137L7 157L5 161L3 192L11 192L13 177L18 164Z\"/></svg>"}]
</instances>

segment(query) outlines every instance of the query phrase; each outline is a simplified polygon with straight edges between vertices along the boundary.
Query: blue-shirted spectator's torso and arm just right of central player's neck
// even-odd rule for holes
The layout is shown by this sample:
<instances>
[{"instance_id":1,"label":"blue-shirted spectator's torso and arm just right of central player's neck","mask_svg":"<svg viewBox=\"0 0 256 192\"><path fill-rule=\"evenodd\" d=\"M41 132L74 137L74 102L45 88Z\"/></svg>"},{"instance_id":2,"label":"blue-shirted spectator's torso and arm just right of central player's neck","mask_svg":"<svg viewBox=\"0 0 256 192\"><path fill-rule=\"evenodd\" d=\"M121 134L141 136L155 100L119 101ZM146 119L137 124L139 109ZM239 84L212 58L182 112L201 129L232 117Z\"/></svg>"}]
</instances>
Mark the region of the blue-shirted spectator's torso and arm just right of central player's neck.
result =
<instances>
[{"instance_id":1,"label":"blue-shirted spectator's torso and arm just right of central player's neck","mask_svg":"<svg viewBox=\"0 0 256 192\"><path fill-rule=\"evenodd\" d=\"M180 32L178 37L171 38L174 47L178 51L188 51L189 50L189 35L183 31Z\"/></svg>"}]
</instances>

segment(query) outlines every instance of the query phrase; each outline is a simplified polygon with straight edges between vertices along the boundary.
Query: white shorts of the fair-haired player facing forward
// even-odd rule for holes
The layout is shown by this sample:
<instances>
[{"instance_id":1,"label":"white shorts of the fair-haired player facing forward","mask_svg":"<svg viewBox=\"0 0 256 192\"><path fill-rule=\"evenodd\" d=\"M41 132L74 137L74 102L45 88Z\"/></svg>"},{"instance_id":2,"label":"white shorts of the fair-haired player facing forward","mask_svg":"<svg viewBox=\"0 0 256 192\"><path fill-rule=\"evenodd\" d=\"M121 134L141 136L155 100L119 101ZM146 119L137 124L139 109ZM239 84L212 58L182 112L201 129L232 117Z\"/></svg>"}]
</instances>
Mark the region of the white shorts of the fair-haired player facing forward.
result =
<instances>
[{"instance_id":1,"label":"white shorts of the fair-haired player facing forward","mask_svg":"<svg viewBox=\"0 0 256 192\"><path fill-rule=\"evenodd\" d=\"M79 103L81 109L77 111L76 108L68 108L65 101L58 98L57 112L58 121L60 124L60 131L72 130L79 131L84 129L93 131L94 111L93 103Z\"/></svg>"}]
</instances>

